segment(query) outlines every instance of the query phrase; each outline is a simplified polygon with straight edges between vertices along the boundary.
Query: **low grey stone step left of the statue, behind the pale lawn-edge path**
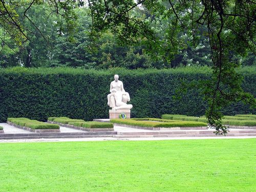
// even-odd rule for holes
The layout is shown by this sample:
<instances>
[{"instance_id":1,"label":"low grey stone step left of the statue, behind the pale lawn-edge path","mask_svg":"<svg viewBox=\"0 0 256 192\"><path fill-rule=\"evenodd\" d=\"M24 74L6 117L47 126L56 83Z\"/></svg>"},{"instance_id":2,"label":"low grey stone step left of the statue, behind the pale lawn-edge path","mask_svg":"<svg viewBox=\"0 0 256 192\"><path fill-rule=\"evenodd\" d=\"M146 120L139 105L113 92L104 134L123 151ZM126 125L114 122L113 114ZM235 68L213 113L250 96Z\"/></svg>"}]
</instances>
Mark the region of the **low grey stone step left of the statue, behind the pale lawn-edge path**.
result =
<instances>
[{"instance_id":1,"label":"low grey stone step left of the statue, behind the pale lawn-edge path","mask_svg":"<svg viewBox=\"0 0 256 192\"><path fill-rule=\"evenodd\" d=\"M0 137L3 139L61 139L61 138L94 138L94 137L112 137L112 135L51 135L51 136L19 136L19 137Z\"/></svg>"}]
</instances>

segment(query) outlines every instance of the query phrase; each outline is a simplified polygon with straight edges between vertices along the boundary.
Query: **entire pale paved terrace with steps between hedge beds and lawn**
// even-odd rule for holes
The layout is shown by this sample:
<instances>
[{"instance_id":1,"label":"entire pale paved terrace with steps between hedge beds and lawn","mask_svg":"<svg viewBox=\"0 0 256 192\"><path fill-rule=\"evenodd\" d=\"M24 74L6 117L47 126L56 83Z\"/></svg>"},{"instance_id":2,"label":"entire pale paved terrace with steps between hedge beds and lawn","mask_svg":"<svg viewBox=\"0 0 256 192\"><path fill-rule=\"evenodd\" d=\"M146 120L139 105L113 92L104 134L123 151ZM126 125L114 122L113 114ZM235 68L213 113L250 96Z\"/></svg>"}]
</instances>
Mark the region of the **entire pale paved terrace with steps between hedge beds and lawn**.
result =
<instances>
[{"instance_id":1,"label":"entire pale paved terrace with steps between hedge beds and lawn","mask_svg":"<svg viewBox=\"0 0 256 192\"><path fill-rule=\"evenodd\" d=\"M60 126L60 133L31 133L7 123L0 123L0 126L3 126L5 131L4 134L0 134L0 142L256 138L256 130L244 129L230 129L227 136L216 136L211 129L153 131L114 125L114 132L86 132Z\"/></svg>"}]
</instances>

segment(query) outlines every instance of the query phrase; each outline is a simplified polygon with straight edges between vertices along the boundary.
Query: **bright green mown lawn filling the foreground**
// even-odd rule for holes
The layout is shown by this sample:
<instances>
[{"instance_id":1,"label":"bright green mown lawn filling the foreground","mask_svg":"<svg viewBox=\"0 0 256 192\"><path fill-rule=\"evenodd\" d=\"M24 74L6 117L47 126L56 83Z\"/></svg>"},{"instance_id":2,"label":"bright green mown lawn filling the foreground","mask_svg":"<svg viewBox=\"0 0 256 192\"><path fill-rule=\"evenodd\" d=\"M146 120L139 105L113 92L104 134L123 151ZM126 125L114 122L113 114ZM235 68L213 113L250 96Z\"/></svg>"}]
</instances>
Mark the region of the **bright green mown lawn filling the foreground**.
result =
<instances>
[{"instance_id":1,"label":"bright green mown lawn filling the foreground","mask_svg":"<svg viewBox=\"0 0 256 192\"><path fill-rule=\"evenodd\" d=\"M0 143L0 191L256 191L256 139Z\"/></svg>"}]
</instances>

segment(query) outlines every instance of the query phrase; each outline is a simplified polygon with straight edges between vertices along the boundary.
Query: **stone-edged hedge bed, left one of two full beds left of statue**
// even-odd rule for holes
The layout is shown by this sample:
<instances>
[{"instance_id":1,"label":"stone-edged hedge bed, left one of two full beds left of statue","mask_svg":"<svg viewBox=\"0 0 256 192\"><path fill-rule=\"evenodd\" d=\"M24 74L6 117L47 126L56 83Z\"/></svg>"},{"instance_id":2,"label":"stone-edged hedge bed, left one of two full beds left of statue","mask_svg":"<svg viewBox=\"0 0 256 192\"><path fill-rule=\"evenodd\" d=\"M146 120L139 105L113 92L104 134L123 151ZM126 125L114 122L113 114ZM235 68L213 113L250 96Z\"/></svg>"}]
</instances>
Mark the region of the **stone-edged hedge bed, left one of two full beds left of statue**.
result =
<instances>
[{"instance_id":1,"label":"stone-edged hedge bed, left one of two full beds left of statue","mask_svg":"<svg viewBox=\"0 0 256 192\"><path fill-rule=\"evenodd\" d=\"M28 118L8 118L7 123L20 129L28 130L35 133L60 132L59 125L44 123Z\"/></svg>"}]
</instances>

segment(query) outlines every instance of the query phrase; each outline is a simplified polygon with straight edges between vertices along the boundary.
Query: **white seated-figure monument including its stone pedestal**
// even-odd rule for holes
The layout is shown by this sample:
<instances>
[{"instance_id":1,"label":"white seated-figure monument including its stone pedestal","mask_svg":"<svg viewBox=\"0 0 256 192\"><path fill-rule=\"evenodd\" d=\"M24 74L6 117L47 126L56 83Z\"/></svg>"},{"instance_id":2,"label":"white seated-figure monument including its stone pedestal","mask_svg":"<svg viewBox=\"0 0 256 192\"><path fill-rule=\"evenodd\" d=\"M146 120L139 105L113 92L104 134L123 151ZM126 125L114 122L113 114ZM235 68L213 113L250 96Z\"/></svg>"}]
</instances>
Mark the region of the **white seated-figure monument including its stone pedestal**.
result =
<instances>
[{"instance_id":1,"label":"white seated-figure monument including its stone pedestal","mask_svg":"<svg viewBox=\"0 0 256 192\"><path fill-rule=\"evenodd\" d=\"M130 101L129 93L125 92L123 89L123 82L118 80L119 76L114 76L114 81L110 83L110 94L108 95L108 105L112 108L110 110L110 119L131 117L132 104L127 104Z\"/></svg>"}]
</instances>

